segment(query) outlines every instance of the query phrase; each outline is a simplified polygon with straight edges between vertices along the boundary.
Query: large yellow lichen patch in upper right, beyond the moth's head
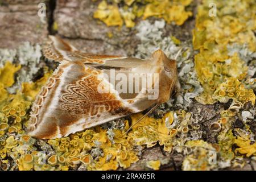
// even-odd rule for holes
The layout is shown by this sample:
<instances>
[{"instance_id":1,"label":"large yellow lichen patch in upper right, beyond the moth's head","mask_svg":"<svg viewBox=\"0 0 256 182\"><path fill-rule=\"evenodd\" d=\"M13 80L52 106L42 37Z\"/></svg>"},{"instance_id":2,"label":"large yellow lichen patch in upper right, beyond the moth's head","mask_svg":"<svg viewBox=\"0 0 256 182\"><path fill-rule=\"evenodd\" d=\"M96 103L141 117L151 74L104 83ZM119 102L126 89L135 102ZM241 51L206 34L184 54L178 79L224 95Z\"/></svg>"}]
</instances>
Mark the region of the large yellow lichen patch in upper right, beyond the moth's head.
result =
<instances>
[{"instance_id":1,"label":"large yellow lichen patch in upper right, beyond the moth's head","mask_svg":"<svg viewBox=\"0 0 256 182\"><path fill-rule=\"evenodd\" d=\"M250 100L255 102L255 95L251 98L237 96L237 88L229 88L230 92L222 89L222 82L228 79L242 81L246 77L247 66L237 53L228 52L229 44L247 44L251 51L256 51L253 31L255 27L255 3L250 1L214 1L218 16L210 17L208 14L209 1L203 1L198 7L196 28L193 30L193 46L200 49L195 56L195 69L204 92L196 97L201 104L214 104L217 100L225 102L228 98ZM211 2L212 3L212 2ZM236 6L234 6L236 4ZM234 9L234 10L232 10ZM226 15L232 11L236 15ZM249 22L249 23L245 23ZM228 89L228 88L227 88ZM216 96L218 90L218 96ZM214 93L214 96L213 96ZM243 94L241 92L241 94ZM248 96L248 95L247 95Z\"/></svg>"}]
</instances>

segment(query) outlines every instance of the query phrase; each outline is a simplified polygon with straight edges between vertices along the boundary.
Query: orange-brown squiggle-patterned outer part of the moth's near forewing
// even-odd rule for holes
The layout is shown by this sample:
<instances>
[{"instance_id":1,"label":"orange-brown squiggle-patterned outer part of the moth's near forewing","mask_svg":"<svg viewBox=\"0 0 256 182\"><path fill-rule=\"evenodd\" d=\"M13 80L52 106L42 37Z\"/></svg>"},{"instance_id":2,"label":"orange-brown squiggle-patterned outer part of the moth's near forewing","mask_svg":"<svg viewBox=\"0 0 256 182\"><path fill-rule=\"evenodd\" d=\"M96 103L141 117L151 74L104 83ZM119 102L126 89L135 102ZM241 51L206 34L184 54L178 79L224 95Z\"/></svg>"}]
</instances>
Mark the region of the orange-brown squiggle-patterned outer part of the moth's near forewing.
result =
<instances>
[{"instance_id":1,"label":"orange-brown squiggle-patterned outer part of the moth's near forewing","mask_svg":"<svg viewBox=\"0 0 256 182\"><path fill-rule=\"evenodd\" d=\"M100 71L61 63L32 105L28 130L36 138L63 137L134 113L118 93L98 93Z\"/></svg>"}]
</instances>

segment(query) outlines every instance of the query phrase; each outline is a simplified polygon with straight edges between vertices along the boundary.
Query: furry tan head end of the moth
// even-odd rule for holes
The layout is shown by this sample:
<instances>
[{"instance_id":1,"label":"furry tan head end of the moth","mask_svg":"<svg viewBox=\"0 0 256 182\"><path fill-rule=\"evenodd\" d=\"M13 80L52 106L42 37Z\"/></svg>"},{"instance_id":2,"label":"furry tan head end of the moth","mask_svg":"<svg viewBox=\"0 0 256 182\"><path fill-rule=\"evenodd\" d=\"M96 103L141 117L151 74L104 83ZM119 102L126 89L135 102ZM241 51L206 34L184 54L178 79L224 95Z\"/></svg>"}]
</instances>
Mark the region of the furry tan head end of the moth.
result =
<instances>
[{"instance_id":1,"label":"furry tan head end of the moth","mask_svg":"<svg viewBox=\"0 0 256 182\"><path fill-rule=\"evenodd\" d=\"M160 66L159 70L159 103L167 102L174 90L177 81L176 60L168 59L162 50L152 53L152 60L155 65Z\"/></svg>"}]
</instances>

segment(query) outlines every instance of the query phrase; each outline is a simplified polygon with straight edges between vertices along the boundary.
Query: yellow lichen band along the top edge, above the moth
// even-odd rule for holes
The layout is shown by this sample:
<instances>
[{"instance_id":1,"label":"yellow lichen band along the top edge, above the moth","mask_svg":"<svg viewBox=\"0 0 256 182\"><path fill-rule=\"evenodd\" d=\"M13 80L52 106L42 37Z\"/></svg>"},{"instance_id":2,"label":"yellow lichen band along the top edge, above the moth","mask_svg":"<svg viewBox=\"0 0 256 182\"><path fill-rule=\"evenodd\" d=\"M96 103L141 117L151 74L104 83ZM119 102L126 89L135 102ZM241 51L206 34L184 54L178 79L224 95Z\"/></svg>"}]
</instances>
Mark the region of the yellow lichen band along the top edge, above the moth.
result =
<instances>
[{"instance_id":1,"label":"yellow lichen band along the top edge, above the moth","mask_svg":"<svg viewBox=\"0 0 256 182\"><path fill-rule=\"evenodd\" d=\"M146 19L151 16L163 18L167 23L174 22L181 25L192 16L191 11L186 10L192 0L169 1L101 1L93 17L102 20L107 26L126 27L135 26L135 18L142 16ZM123 5L123 6L122 6Z\"/></svg>"}]
</instances>

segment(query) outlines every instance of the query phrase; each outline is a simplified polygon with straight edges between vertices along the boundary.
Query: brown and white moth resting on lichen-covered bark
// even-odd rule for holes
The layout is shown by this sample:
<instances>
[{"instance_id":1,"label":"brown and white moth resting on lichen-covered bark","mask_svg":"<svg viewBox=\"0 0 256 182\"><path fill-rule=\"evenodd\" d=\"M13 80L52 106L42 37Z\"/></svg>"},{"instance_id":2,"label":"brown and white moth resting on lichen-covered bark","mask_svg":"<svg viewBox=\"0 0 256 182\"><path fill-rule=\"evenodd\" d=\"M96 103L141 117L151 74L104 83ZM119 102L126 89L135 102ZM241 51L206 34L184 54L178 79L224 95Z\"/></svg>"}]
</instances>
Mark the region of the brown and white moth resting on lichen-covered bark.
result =
<instances>
[{"instance_id":1,"label":"brown and white moth resting on lichen-covered bark","mask_svg":"<svg viewBox=\"0 0 256 182\"><path fill-rule=\"evenodd\" d=\"M32 105L27 126L29 134L35 138L64 137L162 104L170 99L177 82L176 61L168 59L160 49L146 60L93 55L50 36L43 54L60 64ZM151 93L145 92L147 88L143 84L139 84L138 93L119 93L118 82L108 77L111 79L113 69L115 76L118 73L127 77L129 74L158 75L158 79L146 77L149 86L158 86L158 97L149 99ZM123 90L134 85L135 78L132 78L127 85L119 86ZM99 87L110 92L99 92Z\"/></svg>"}]
</instances>

